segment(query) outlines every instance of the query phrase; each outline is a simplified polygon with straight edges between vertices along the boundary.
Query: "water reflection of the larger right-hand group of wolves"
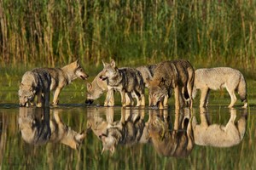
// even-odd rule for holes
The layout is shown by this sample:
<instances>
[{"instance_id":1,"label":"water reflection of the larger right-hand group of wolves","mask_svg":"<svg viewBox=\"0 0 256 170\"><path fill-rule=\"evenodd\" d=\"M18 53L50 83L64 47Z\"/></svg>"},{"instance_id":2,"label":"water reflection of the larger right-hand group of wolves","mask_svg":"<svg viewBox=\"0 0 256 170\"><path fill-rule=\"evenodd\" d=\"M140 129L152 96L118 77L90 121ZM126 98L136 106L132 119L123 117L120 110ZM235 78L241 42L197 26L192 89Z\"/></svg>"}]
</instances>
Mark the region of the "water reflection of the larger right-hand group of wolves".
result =
<instances>
[{"instance_id":1,"label":"water reflection of the larger right-hand group of wolves","mask_svg":"<svg viewBox=\"0 0 256 170\"><path fill-rule=\"evenodd\" d=\"M147 110L146 110L147 111ZM195 144L215 147L231 147L239 144L246 130L247 110L236 122L236 110L230 110L226 126L210 124L207 110L201 108L201 124L196 122L189 108L176 110L145 110L122 108L119 120L114 120L114 108L90 108L87 128L102 141L102 153L115 152L117 146L152 144L160 156L189 156ZM100 113L106 117L102 117ZM96 115L96 113L98 115ZM174 118L172 121L171 118ZM89 131L88 131L89 132Z\"/></svg>"}]
</instances>

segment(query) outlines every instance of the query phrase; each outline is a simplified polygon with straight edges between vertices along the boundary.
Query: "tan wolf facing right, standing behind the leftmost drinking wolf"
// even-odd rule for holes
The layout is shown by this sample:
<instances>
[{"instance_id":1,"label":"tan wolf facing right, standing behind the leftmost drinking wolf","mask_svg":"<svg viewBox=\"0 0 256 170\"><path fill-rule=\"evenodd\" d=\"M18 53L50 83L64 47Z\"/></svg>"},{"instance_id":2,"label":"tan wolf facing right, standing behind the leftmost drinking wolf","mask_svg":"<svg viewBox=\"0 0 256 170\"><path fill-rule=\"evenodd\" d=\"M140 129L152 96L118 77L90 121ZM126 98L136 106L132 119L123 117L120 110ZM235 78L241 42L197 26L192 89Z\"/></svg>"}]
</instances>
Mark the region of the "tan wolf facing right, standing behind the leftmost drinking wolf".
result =
<instances>
[{"instance_id":1,"label":"tan wolf facing right, standing behind the leftmost drinking wolf","mask_svg":"<svg viewBox=\"0 0 256 170\"><path fill-rule=\"evenodd\" d=\"M84 72L79 59L62 68L46 68L51 76L50 90L54 92L53 105L58 105L61 89L73 82L76 78L87 79L89 76Z\"/></svg>"}]
</instances>

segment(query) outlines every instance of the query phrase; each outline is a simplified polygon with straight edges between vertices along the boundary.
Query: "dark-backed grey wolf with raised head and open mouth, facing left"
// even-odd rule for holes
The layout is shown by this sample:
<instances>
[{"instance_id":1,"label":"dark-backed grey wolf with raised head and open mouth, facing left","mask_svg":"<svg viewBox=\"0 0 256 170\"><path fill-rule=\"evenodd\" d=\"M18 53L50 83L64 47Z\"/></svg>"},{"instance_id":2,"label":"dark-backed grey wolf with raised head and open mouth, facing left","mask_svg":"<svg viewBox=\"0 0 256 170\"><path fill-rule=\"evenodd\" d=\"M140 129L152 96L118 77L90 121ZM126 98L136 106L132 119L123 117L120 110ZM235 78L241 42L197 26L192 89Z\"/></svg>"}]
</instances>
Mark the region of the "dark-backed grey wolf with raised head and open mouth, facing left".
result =
<instances>
[{"instance_id":1,"label":"dark-backed grey wolf with raised head and open mouth, facing left","mask_svg":"<svg viewBox=\"0 0 256 170\"><path fill-rule=\"evenodd\" d=\"M145 105L143 77L139 71L128 67L119 69L113 59L110 64L103 62L103 65L100 78L107 81L108 93L113 93L111 90L119 91L122 106L127 105L125 94L129 99L132 99L131 94L134 94L137 106Z\"/></svg>"}]
</instances>

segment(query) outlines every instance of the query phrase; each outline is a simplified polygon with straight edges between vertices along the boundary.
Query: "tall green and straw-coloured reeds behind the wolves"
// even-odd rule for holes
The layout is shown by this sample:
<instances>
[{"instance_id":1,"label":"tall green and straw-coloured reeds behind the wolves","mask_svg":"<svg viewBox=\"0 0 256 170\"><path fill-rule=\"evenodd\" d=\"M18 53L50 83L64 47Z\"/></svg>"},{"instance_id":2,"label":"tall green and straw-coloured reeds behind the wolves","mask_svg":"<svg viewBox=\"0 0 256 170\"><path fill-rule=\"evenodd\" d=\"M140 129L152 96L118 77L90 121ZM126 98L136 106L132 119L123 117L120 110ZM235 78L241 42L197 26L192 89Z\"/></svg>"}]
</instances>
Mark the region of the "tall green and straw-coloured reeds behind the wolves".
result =
<instances>
[{"instance_id":1,"label":"tall green and straw-coloured reeds behind the wolves","mask_svg":"<svg viewBox=\"0 0 256 170\"><path fill-rule=\"evenodd\" d=\"M249 0L1 0L1 63L186 58L253 70L255 11Z\"/></svg>"}]
</instances>

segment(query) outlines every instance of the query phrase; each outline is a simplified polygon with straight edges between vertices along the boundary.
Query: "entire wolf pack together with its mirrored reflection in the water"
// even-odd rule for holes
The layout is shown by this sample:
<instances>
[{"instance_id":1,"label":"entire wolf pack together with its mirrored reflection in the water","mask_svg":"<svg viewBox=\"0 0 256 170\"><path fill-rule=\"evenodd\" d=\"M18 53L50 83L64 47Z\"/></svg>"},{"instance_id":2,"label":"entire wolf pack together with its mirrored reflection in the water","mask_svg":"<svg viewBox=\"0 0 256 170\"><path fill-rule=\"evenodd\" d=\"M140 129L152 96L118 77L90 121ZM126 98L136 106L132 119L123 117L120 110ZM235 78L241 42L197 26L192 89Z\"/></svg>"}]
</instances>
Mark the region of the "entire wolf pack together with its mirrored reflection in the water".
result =
<instances>
[{"instance_id":1,"label":"entire wolf pack together with its mirrored reflection in the water","mask_svg":"<svg viewBox=\"0 0 256 170\"><path fill-rule=\"evenodd\" d=\"M106 107L107 121L100 116L91 116L104 107L87 107L87 129L81 133L61 121L58 107L50 110L53 116L49 116L49 106L60 104L59 96L64 87L77 78L87 80L89 77L79 59L61 68L35 68L25 72L18 94L19 127L26 143L60 142L78 149L86 133L92 130L102 141L102 152L110 150L113 153L117 144L148 143L150 139L155 150L163 156L187 156L194 144L228 147L241 142L245 133L247 113L235 122L236 110L233 108L236 104L236 94L240 96L242 107L248 106L247 83L241 71L230 67L195 70L185 59L162 61L136 68L119 67L113 59L110 63L102 61L102 65L102 71L92 82L87 82L85 103L91 105L102 94L106 94L103 105ZM211 124L207 119L209 92L222 88L226 88L231 99L228 105L230 121L225 126ZM147 99L145 89L148 89ZM198 90L201 91L201 124L197 123L195 116L190 117ZM118 97L115 93L120 94L120 102L114 101ZM171 132L166 108L172 93L175 101L175 122ZM148 108L151 109L148 110L148 122L144 122L143 107L146 106L147 100ZM117 103L122 106L121 119L113 121L113 106ZM132 108L139 109L132 111ZM94 109L96 111L90 114L90 110ZM158 114L162 115L162 118L155 116ZM216 136L219 138L215 138Z\"/></svg>"}]
</instances>

